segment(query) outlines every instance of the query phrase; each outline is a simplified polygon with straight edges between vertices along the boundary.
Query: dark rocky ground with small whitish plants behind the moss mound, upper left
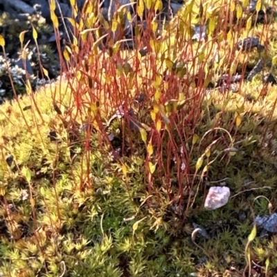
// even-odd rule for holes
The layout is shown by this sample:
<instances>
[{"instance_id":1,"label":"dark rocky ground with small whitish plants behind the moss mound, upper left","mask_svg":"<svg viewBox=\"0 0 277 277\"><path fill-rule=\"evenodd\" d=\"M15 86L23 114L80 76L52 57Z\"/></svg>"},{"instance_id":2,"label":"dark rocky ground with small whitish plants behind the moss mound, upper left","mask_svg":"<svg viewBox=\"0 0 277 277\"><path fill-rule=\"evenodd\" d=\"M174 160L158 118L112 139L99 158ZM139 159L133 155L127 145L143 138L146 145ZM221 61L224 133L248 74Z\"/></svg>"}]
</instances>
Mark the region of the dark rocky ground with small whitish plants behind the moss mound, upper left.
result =
<instances>
[{"instance_id":1,"label":"dark rocky ground with small whitish plants behind the moss mound, upper left","mask_svg":"<svg viewBox=\"0 0 277 277\"><path fill-rule=\"evenodd\" d=\"M79 10L84 6L85 0L77 0ZM60 8L56 8L55 13L58 18L71 17L72 9L69 0L59 0ZM129 0L120 0L120 3L129 3ZM170 11L171 15L175 14L183 0L175 0L174 3L165 9L165 12ZM166 0L164 7L168 7ZM107 21L111 19L114 10L116 9L114 1L104 0L100 3L102 15ZM134 10L131 11L134 15ZM38 33L37 42L39 45L39 54L37 53L36 44L33 39L32 25L36 28ZM126 28L130 24L126 21ZM71 28L69 23L66 28ZM130 28L129 28L130 30ZM26 67L24 61L20 58L21 43L19 41L19 34L25 32L24 44L28 52L26 59ZM60 22L60 34L64 34L64 26ZM48 80L42 79L41 70L39 68L39 60L42 66L48 70L50 79L56 79L60 75L60 62L58 59L56 38L52 28L51 13L48 0L14 0L6 1L0 0L0 34L6 40L6 53L8 59L4 59L2 50L0 49L0 103L5 99L12 99L14 92L10 85L10 77L8 77L8 68L12 73L15 82L17 93L25 93L24 80L26 79L26 72L30 77L33 89L39 84L44 84ZM64 38L64 37L63 37ZM6 63L8 61L8 64Z\"/></svg>"}]
</instances>

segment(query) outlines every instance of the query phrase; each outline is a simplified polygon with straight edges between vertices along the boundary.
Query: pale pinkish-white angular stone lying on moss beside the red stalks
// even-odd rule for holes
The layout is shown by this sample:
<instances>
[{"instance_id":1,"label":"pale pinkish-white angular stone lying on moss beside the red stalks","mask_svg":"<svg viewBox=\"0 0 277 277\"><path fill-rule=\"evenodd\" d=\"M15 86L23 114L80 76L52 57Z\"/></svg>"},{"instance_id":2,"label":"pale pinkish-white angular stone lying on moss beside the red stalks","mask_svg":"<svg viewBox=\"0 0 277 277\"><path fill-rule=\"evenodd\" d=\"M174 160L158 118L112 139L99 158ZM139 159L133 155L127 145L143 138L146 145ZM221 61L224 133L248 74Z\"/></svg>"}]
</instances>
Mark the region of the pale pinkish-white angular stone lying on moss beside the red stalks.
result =
<instances>
[{"instance_id":1,"label":"pale pinkish-white angular stone lying on moss beside the red stalks","mask_svg":"<svg viewBox=\"0 0 277 277\"><path fill-rule=\"evenodd\" d=\"M229 196L229 187L211 187L208 191L204 207L207 210L218 209L228 202Z\"/></svg>"}]
</instances>

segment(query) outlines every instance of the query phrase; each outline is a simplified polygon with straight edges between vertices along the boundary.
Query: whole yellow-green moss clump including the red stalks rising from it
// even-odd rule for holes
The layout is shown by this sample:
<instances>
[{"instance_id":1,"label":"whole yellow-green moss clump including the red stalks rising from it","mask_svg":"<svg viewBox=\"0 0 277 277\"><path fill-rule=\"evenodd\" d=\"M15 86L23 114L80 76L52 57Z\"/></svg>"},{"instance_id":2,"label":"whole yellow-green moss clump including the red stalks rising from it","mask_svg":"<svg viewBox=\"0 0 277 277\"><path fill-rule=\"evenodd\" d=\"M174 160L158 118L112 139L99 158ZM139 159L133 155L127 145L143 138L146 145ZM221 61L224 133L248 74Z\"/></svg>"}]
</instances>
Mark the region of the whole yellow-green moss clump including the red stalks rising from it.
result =
<instances>
[{"instance_id":1,"label":"whole yellow-green moss clump including the red stalks rising from it","mask_svg":"<svg viewBox=\"0 0 277 277\"><path fill-rule=\"evenodd\" d=\"M73 41L70 72L1 106L3 275L274 274L275 238L253 222L277 205L277 89L257 75L222 91L217 79L260 53L232 49L239 36L222 26L208 29L216 43L192 41L186 24L199 12L220 18L190 1L178 35L169 24L145 55L120 43L100 51L81 19L90 52ZM262 55L274 64L270 43ZM213 185L231 198L208 211Z\"/></svg>"}]
</instances>

